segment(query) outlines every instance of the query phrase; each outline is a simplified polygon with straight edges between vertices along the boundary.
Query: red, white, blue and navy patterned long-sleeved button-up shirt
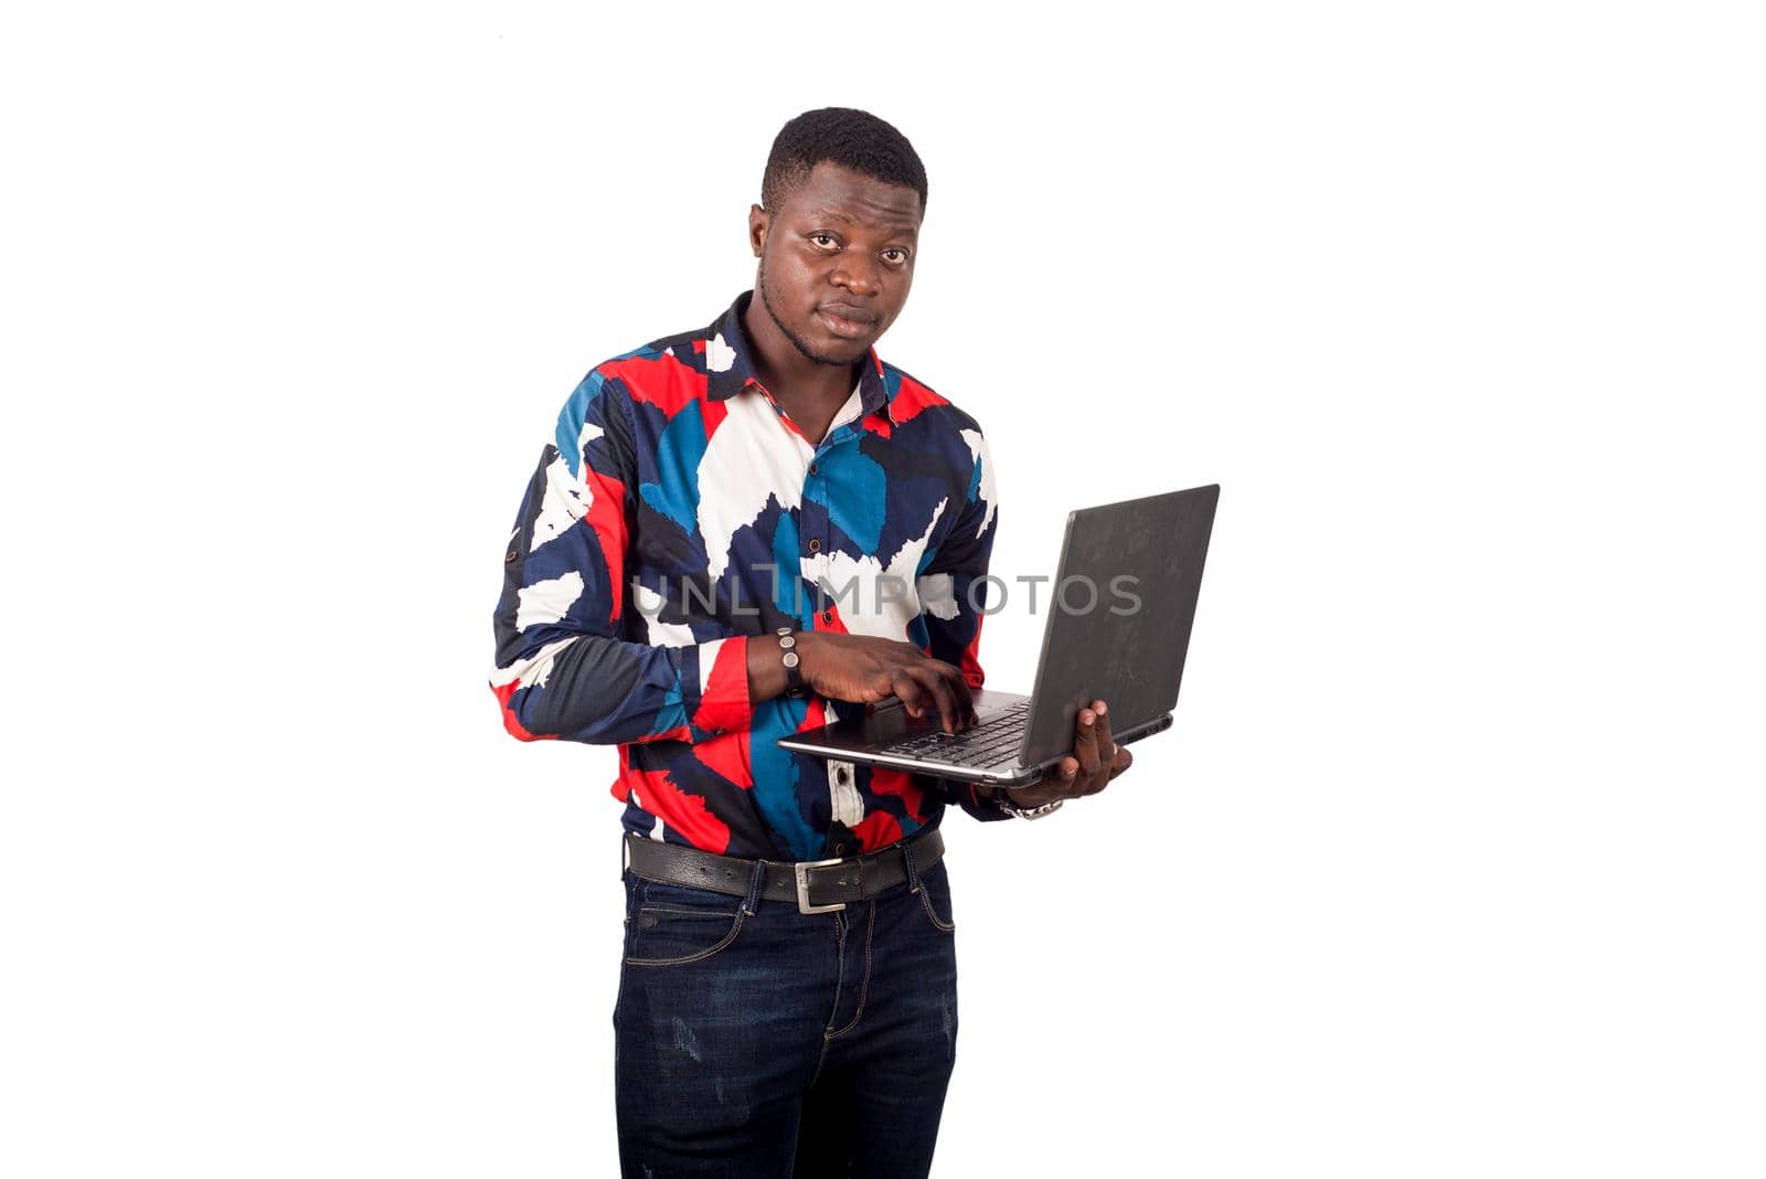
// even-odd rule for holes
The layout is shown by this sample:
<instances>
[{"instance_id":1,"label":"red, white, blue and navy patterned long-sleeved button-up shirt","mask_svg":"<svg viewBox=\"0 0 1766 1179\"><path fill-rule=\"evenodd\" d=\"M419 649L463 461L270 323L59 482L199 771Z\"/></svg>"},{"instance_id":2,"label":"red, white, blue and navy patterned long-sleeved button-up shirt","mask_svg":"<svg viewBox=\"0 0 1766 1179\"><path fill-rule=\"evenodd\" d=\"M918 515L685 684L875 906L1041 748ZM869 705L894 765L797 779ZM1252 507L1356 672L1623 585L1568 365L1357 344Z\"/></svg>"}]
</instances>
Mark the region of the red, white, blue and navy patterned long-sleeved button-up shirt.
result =
<instances>
[{"instance_id":1,"label":"red, white, blue and navy patterned long-sleeved button-up shirt","mask_svg":"<svg viewBox=\"0 0 1766 1179\"><path fill-rule=\"evenodd\" d=\"M597 365L558 415L503 556L491 688L510 734L620 747L625 830L821 860L940 822L968 785L775 741L839 717L752 701L747 644L779 627L913 642L982 685L998 524L975 418L876 349L819 443L756 379L743 293L708 328ZM973 586L973 591L971 591Z\"/></svg>"}]
</instances>

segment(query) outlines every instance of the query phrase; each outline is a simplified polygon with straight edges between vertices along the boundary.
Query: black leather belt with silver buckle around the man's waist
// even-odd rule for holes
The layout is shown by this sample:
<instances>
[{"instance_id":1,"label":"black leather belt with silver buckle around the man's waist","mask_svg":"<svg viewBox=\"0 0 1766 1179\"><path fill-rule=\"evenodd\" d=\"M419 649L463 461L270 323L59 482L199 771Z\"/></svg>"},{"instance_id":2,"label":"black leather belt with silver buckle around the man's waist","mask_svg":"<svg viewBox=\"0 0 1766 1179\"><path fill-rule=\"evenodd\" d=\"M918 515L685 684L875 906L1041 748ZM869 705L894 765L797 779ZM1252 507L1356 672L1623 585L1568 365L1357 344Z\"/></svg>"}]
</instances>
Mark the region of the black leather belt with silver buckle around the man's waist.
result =
<instances>
[{"instance_id":1,"label":"black leather belt with silver buckle around the man's waist","mask_svg":"<svg viewBox=\"0 0 1766 1179\"><path fill-rule=\"evenodd\" d=\"M945 856L945 837L938 830L890 844L862 856L789 863L777 860L738 860L717 856L680 844L659 844L627 831L625 861L646 881L687 884L729 897L747 897L754 865L765 863L761 881L765 900L795 900L798 912L837 912L855 900L871 900L885 888L908 879L904 849L913 854L915 872L925 872Z\"/></svg>"}]
</instances>

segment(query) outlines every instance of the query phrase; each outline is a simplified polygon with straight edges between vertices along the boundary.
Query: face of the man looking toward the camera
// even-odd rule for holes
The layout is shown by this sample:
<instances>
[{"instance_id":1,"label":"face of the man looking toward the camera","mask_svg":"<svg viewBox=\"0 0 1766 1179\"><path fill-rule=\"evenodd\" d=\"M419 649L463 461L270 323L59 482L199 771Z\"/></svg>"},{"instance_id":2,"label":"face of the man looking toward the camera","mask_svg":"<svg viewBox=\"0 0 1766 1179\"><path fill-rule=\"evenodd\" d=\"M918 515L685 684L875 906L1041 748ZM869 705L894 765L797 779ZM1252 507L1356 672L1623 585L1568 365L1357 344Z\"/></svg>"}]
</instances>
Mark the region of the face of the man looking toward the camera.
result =
<instances>
[{"instance_id":1,"label":"face of the man looking toward the camera","mask_svg":"<svg viewBox=\"0 0 1766 1179\"><path fill-rule=\"evenodd\" d=\"M761 305L819 364L849 365L908 302L920 194L821 162L779 208L749 212Z\"/></svg>"}]
</instances>

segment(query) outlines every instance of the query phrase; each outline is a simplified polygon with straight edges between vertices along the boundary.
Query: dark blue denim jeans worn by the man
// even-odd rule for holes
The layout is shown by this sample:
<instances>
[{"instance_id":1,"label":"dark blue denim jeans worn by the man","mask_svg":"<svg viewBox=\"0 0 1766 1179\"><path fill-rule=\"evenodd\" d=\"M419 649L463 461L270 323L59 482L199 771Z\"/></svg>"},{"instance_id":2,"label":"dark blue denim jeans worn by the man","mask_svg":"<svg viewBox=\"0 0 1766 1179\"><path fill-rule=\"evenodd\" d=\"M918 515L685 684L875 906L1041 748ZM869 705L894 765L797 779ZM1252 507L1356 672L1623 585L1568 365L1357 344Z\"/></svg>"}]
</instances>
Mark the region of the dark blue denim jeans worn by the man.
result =
<instances>
[{"instance_id":1,"label":"dark blue denim jeans worn by the man","mask_svg":"<svg viewBox=\"0 0 1766 1179\"><path fill-rule=\"evenodd\" d=\"M844 912L625 872L613 1010L623 1175L908 1179L957 1057L940 861Z\"/></svg>"}]
</instances>

